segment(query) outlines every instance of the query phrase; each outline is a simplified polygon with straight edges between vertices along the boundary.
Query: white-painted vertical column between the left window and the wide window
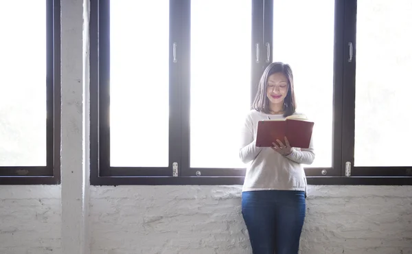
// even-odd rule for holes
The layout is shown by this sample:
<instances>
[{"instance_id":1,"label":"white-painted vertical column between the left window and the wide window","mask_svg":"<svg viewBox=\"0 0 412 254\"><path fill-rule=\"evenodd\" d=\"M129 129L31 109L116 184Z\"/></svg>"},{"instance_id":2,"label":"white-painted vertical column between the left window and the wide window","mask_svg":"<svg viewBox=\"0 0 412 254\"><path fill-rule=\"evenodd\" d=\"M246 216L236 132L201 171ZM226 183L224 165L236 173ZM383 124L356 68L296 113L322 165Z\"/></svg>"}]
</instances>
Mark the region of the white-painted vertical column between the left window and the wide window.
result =
<instances>
[{"instance_id":1,"label":"white-painted vertical column between the left window and the wide window","mask_svg":"<svg viewBox=\"0 0 412 254\"><path fill-rule=\"evenodd\" d=\"M88 3L60 0L62 253L89 254Z\"/></svg>"}]
</instances>

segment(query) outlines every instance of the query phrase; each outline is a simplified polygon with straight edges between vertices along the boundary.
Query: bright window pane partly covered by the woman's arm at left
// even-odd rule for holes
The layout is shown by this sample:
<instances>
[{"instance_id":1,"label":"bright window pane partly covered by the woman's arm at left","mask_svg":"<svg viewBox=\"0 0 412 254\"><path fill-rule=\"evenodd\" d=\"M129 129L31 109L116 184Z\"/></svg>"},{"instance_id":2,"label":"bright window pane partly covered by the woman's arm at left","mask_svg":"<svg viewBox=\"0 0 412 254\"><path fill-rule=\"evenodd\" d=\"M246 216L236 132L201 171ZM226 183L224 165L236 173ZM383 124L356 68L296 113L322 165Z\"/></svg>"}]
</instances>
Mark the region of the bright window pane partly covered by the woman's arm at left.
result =
<instances>
[{"instance_id":1,"label":"bright window pane partly covered by the woman's arm at left","mask_svg":"<svg viewBox=\"0 0 412 254\"><path fill-rule=\"evenodd\" d=\"M244 168L236 130L250 108L251 1L191 5L190 166Z\"/></svg>"}]
</instances>

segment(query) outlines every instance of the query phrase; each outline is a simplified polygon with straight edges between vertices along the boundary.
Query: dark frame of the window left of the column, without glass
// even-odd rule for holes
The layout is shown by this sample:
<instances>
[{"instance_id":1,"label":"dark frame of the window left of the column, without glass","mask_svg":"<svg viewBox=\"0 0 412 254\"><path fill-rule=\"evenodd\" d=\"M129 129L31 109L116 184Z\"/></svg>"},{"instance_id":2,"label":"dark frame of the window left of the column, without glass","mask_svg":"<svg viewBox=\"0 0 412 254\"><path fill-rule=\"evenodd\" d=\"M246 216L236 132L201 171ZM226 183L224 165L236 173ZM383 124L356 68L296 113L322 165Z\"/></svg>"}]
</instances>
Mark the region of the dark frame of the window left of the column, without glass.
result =
<instances>
[{"instance_id":1,"label":"dark frame of the window left of the column, without glass","mask_svg":"<svg viewBox=\"0 0 412 254\"><path fill-rule=\"evenodd\" d=\"M46 9L46 165L0 167L0 185L60 183L60 0L46 0Z\"/></svg>"}]
</instances>

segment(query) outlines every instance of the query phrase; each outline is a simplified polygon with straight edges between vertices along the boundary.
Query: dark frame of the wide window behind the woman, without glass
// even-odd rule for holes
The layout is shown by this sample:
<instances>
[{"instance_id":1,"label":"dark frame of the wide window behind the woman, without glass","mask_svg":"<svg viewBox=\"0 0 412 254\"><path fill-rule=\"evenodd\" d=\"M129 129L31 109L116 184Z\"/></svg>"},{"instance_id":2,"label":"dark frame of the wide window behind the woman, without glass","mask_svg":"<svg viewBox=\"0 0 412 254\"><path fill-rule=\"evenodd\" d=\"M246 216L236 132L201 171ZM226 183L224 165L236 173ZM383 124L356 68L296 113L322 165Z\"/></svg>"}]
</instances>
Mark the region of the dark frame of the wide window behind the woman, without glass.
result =
<instances>
[{"instance_id":1,"label":"dark frame of the wide window behind the woman, without glass","mask_svg":"<svg viewBox=\"0 0 412 254\"><path fill-rule=\"evenodd\" d=\"M273 60L273 0L252 0L251 101L264 68ZM242 185L245 169L190 168L190 0L170 0L170 163L167 168L110 167L108 143L110 0L91 0L91 184ZM411 185L409 168L353 168L356 0L335 0L332 168L305 168L312 185ZM346 61L353 45L353 60ZM175 44L174 44L175 43ZM176 46L177 64L172 62ZM181 50L185 49L185 50ZM270 51L268 51L270 50ZM266 56L270 56L266 59ZM177 162L178 175L173 175ZM375 171L374 171L375 170ZM409 170L409 171L408 171ZM392 173L396 172L395 175ZM409 172L402 174L402 172ZM200 174L199 174L200 173Z\"/></svg>"}]
</instances>

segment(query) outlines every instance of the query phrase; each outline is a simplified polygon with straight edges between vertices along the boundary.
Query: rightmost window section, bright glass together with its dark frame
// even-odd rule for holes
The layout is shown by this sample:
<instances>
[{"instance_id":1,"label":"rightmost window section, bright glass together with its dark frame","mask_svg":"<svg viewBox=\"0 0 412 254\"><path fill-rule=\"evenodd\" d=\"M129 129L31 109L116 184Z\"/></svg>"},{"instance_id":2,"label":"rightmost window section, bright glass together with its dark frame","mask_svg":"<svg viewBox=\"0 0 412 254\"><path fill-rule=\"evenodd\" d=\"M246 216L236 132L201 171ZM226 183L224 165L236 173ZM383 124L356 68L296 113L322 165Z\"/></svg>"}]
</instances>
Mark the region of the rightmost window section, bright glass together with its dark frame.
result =
<instances>
[{"instance_id":1,"label":"rightmost window section, bright glass together with its dark frame","mask_svg":"<svg viewBox=\"0 0 412 254\"><path fill-rule=\"evenodd\" d=\"M350 6L352 5L352 6ZM343 91L343 162L352 176L412 176L412 3L358 1L350 17ZM386 147L393 149L386 149ZM384 151L385 150L385 151ZM380 178L380 181L383 181ZM411 181L408 181L410 183Z\"/></svg>"}]
</instances>

